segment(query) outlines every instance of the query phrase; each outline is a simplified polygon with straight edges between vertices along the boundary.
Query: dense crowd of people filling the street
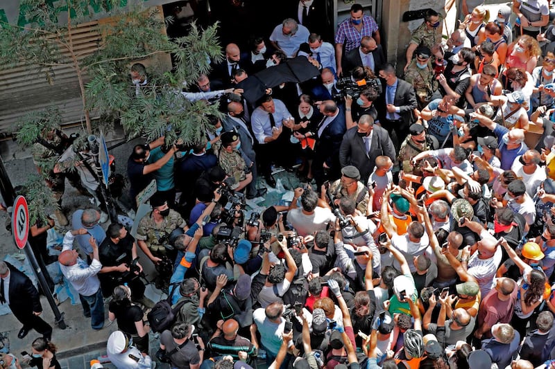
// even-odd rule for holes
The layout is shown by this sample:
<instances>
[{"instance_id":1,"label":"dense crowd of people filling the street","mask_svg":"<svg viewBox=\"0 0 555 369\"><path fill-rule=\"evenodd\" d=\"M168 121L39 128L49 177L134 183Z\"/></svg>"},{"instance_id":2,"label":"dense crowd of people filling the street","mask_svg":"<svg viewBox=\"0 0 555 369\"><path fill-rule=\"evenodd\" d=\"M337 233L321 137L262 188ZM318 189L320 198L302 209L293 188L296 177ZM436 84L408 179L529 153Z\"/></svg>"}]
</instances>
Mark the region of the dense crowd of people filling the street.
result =
<instances>
[{"instance_id":1,"label":"dense crowd of people filling the street","mask_svg":"<svg viewBox=\"0 0 555 369\"><path fill-rule=\"evenodd\" d=\"M98 183L78 165L76 186L100 210L71 216L58 263L93 330L106 317L117 321L108 357L118 368L153 365L155 323L146 316L159 303L144 296L144 254L175 312L150 333L160 334L156 359L172 368L248 368L257 357L270 368L551 368L549 2L514 0L490 15L482 1L463 1L464 19L447 42L441 13L428 10L400 69L386 62L362 6L352 5L334 39L308 21L318 6L298 1L245 52L227 44L223 62L182 91L221 110L192 147L164 136L133 147L130 208L149 183L157 186L136 235L117 222L100 225L108 212ZM298 58L315 78L246 98L249 76ZM132 94L142 93L144 65L130 75ZM46 132L37 163L61 138ZM60 163L73 164L67 156ZM58 199L64 166L51 173ZM278 167L302 186L288 204L248 213L246 199L275 188ZM69 223L61 211L56 217ZM0 303L23 324L19 338L31 329L43 335L31 365L59 368L38 291L6 262L0 277Z\"/></svg>"}]
</instances>

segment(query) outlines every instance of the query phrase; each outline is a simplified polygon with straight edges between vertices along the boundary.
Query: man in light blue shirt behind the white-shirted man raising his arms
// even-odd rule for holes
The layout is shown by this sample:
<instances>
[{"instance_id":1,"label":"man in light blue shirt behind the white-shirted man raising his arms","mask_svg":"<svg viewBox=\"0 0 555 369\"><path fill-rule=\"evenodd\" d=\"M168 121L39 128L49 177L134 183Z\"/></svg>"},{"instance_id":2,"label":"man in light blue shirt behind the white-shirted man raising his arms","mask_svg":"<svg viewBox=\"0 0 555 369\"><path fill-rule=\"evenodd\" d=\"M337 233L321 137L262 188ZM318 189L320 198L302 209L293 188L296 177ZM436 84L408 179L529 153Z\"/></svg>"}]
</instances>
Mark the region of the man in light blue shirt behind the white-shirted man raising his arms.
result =
<instances>
[{"instance_id":1,"label":"man in light blue shirt behind the white-shirted man raising his arms","mask_svg":"<svg viewBox=\"0 0 555 369\"><path fill-rule=\"evenodd\" d=\"M100 226L101 214L99 210L93 208L86 208L76 210L73 215L71 215L71 228L77 231L80 228L85 228L87 230L86 235L76 235L75 239L79 245L79 249L87 255L87 262L92 260L92 247L89 243L89 238L93 237L96 244L101 244L106 238L106 232Z\"/></svg>"}]
</instances>

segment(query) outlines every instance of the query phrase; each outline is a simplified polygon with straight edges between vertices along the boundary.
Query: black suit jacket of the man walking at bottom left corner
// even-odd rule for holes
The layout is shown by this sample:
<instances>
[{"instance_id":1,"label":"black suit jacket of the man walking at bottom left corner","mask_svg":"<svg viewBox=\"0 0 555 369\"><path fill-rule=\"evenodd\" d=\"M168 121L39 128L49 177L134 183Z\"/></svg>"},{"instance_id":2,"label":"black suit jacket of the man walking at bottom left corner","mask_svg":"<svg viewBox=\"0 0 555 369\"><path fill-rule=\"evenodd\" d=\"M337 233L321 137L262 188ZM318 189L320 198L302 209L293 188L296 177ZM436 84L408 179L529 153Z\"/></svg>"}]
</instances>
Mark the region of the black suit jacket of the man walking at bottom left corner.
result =
<instances>
[{"instance_id":1,"label":"black suit jacket of the man walking at bottom left corner","mask_svg":"<svg viewBox=\"0 0 555 369\"><path fill-rule=\"evenodd\" d=\"M33 282L9 262L6 262L6 265L10 269L10 288L8 289L10 309L30 314L32 312L42 312L39 291L37 291Z\"/></svg>"}]
</instances>

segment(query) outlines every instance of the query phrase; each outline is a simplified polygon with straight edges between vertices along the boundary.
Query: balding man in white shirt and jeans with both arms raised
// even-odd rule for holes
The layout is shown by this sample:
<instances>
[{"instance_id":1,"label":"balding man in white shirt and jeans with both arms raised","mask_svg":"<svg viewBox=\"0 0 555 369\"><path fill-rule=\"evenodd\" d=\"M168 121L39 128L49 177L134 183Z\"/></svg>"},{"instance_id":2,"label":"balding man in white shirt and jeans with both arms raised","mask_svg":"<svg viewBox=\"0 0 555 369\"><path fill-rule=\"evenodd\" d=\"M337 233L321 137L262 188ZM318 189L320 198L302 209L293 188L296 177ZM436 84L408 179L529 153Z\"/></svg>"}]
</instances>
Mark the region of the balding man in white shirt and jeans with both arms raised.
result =
<instances>
[{"instance_id":1,"label":"balding man in white shirt and jeans with both arms raised","mask_svg":"<svg viewBox=\"0 0 555 369\"><path fill-rule=\"evenodd\" d=\"M62 253L58 256L58 262L60 262L62 274L79 294L79 300L83 305L83 315L91 318L93 330L101 330L104 326L104 300L100 280L96 276L102 269L99 260L99 246L94 237L89 235L89 244L92 248L90 266L79 258L77 251L73 250L76 236L87 234L89 231L86 228L68 231L64 236Z\"/></svg>"}]
</instances>

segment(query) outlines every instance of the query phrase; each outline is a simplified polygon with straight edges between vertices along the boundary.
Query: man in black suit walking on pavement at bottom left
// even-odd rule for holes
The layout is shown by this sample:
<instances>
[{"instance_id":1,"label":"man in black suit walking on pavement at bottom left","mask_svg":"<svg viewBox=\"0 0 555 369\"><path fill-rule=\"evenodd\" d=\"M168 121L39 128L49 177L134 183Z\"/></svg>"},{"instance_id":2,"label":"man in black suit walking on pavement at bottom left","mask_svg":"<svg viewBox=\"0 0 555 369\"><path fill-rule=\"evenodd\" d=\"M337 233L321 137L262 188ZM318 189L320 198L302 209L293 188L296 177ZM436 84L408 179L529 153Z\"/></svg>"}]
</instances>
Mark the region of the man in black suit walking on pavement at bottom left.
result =
<instances>
[{"instance_id":1,"label":"man in black suit walking on pavement at bottom left","mask_svg":"<svg viewBox=\"0 0 555 369\"><path fill-rule=\"evenodd\" d=\"M23 324L17 337L23 339L34 329L50 340L52 327L43 321L39 291L33 282L21 271L8 262L0 262L0 303L8 303L18 321Z\"/></svg>"}]
</instances>

